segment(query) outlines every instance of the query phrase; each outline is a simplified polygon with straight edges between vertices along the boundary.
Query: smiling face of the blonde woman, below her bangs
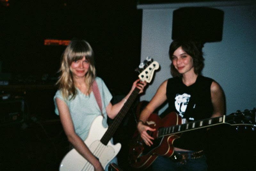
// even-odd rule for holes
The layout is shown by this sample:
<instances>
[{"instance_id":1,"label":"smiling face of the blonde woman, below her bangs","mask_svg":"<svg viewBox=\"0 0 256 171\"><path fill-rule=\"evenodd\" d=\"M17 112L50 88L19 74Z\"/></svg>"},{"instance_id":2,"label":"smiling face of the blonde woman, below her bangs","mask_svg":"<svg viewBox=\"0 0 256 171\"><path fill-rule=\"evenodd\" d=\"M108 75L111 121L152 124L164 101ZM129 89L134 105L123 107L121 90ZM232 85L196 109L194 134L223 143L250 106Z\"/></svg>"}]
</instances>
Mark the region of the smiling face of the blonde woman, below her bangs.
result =
<instances>
[{"instance_id":1,"label":"smiling face of the blonde woman, below her bangs","mask_svg":"<svg viewBox=\"0 0 256 171\"><path fill-rule=\"evenodd\" d=\"M81 78L84 77L85 74L88 72L90 67L90 63L87 59L85 59L85 56L80 59L73 61L70 66L70 70L73 74L73 77L75 78Z\"/></svg>"}]
</instances>

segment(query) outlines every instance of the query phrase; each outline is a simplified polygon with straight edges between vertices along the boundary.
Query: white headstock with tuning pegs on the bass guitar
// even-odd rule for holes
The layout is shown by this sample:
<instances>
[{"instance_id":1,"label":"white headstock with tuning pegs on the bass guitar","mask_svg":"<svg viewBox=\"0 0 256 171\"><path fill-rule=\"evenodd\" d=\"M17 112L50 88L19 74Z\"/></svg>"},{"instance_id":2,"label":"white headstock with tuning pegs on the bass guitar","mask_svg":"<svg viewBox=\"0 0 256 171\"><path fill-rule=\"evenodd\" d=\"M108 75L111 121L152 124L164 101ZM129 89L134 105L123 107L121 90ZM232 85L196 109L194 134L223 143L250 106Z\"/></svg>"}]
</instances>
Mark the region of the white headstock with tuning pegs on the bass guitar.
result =
<instances>
[{"instance_id":1,"label":"white headstock with tuning pegs on the bass guitar","mask_svg":"<svg viewBox=\"0 0 256 171\"><path fill-rule=\"evenodd\" d=\"M147 57L146 60L144 60L142 63L140 63L139 67L135 69L135 71L139 72L139 78L140 80L151 82L155 70L159 68L159 63L156 61L153 61L152 58Z\"/></svg>"}]
</instances>

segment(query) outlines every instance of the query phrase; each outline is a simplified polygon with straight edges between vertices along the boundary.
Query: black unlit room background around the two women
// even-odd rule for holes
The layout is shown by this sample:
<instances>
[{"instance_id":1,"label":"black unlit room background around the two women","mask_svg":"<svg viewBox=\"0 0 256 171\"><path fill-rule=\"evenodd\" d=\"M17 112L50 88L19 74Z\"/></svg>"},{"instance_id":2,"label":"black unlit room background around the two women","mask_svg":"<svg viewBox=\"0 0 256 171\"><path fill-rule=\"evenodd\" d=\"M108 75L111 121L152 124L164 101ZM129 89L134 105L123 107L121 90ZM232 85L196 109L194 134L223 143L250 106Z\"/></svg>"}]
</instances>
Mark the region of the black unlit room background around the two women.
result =
<instances>
[{"instance_id":1,"label":"black unlit room background around the two women","mask_svg":"<svg viewBox=\"0 0 256 171\"><path fill-rule=\"evenodd\" d=\"M9 0L6 6L0 1L0 81L9 82L0 85L1 97L8 97L0 101L0 170L58 170L69 151L53 105L66 47L44 46L44 39L85 39L95 52L97 75L110 89L112 102L129 91L140 63L142 11L136 4ZM124 170L132 169L127 153L136 128L135 105L114 136L122 144L117 157ZM220 126L211 129L207 139L209 170L255 169L255 132Z\"/></svg>"}]
</instances>

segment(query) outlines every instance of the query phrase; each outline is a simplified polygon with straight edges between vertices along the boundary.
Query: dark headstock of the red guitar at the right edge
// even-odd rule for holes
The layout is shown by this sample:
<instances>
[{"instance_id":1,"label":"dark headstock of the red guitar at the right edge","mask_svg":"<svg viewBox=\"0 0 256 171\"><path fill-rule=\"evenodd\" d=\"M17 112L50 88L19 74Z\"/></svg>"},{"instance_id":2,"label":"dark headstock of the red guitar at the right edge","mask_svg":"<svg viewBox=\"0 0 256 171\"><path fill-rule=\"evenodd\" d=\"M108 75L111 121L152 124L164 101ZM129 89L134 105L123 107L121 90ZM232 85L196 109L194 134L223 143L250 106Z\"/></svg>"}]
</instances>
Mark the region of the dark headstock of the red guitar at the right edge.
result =
<instances>
[{"instance_id":1,"label":"dark headstock of the red guitar at the right edge","mask_svg":"<svg viewBox=\"0 0 256 171\"><path fill-rule=\"evenodd\" d=\"M225 123L233 126L243 125L244 129L251 127L254 131L256 129L256 108L253 108L253 110L245 109L243 112L238 110L236 113L231 113L226 116Z\"/></svg>"}]
</instances>

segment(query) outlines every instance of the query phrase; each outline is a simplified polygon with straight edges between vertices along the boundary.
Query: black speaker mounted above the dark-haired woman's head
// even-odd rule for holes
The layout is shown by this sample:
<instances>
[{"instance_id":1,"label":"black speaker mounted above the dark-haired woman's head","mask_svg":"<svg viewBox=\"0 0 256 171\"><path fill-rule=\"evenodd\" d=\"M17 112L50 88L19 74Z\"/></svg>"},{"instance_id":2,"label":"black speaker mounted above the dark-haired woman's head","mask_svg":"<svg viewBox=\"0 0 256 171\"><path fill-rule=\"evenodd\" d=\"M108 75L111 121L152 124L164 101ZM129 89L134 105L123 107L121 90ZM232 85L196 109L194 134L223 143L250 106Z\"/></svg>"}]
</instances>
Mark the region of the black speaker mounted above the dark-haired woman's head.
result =
<instances>
[{"instance_id":1,"label":"black speaker mounted above the dark-haired woman's head","mask_svg":"<svg viewBox=\"0 0 256 171\"><path fill-rule=\"evenodd\" d=\"M172 39L202 43L222 40L224 12L208 7L184 7L173 12Z\"/></svg>"}]
</instances>

